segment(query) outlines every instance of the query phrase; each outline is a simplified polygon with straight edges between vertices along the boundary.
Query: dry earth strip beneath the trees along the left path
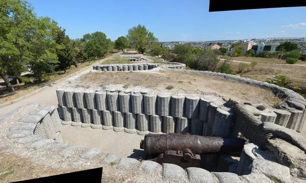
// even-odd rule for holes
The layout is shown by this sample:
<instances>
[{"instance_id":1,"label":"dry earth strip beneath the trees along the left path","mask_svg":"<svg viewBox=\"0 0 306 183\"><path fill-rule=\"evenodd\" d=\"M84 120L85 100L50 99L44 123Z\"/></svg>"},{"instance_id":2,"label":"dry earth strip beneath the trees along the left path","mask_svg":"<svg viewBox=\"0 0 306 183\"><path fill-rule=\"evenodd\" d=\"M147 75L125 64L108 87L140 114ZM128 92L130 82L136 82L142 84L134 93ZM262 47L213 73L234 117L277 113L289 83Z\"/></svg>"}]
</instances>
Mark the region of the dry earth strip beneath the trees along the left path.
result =
<instances>
[{"instance_id":1,"label":"dry earth strip beneath the trees along the left path","mask_svg":"<svg viewBox=\"0 0 306 183\"><path fill-rule=\"evenodd\" d=\"M40 87L43 87L47 84L50 84L54 81L57 81L61 78L67 77L70 74L73 74L75 72L78 72L82 70L83 68L98 62L99 60L92 61L92 62L85 62L85 63L79 63L78 67L75 67L74 65L71 65L71 68L66 70L66 73L62 71L60 74L52 75L50 76L49 80L46 82L43 82L41 84L29 84L29 85L24 85L24 83L20 84L14 84L13 87L15 88L15 91L13 93L8 93L6 90L6 86L3 83L0 85L0 104L9 102L11 100L17 99L21 96L24 96L26 94L31 93L32 91L35 91L36 89L39 89ZM24 75L23 77L27 77L27 75ZM32 78L33 79L33 78Z\"/></svg>"}]
</instances>

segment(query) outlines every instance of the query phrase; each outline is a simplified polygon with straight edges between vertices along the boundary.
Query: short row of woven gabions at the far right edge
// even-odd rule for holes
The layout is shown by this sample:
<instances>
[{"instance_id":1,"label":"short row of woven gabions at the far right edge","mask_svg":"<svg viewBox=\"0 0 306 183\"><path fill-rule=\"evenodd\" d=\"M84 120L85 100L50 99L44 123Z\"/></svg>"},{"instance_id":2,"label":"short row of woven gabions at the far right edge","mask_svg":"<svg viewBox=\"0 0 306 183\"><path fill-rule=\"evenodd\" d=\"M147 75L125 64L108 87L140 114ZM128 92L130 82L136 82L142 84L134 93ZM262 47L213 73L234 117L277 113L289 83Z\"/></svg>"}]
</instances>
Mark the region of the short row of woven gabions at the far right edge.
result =
<instances>
[{"instance_id":1,"label":"short row of woven gabions at the far right edge","mask_svg":"<svg viewBox=\"0 0 306 183\"><path fill-rule=\"evenodd\" d=\"M286 128L301 132L306 120L306 109L283 110L276 109L270 113L262 113L261 121L275 123Z\"/></svg>"}]
</instances>

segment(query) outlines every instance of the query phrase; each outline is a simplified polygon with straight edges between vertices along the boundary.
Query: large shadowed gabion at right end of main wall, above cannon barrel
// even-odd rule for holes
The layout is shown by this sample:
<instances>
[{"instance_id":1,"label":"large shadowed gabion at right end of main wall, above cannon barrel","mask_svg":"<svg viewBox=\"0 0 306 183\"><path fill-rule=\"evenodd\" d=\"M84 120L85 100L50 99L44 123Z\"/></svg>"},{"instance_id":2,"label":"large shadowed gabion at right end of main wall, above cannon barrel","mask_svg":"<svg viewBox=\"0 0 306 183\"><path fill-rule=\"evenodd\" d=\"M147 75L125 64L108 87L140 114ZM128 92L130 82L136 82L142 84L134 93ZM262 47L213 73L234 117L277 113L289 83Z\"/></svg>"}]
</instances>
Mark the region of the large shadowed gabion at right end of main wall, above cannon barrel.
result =
<instances>
[{"instance_id":1,"label":"large shadowed gabion at right end of main wall, above cannon barrel","mask_svg":"<svg viewBox=\"0 0 306 183\"><path fill-rule=\"evenodd\" d=\"M233 113L217 108L212 128L213 136L227 137L231 134Z\"/></svg>"}]
</instances>

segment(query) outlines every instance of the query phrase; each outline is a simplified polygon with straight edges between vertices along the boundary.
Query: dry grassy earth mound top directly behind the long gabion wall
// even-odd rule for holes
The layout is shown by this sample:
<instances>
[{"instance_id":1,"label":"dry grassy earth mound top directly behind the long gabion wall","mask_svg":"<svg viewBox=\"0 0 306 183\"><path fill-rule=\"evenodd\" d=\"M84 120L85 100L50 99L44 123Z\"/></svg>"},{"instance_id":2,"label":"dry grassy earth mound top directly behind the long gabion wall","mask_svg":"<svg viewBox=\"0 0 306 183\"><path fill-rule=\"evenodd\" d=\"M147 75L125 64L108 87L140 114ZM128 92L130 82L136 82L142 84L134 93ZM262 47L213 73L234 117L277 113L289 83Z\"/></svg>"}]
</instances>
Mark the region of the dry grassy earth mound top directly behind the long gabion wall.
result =
<instances>
[{"instance_id":1,"label":"dry grassy earth mound top directly behind the long gabion wall","mask_svg":"<svg viewBox=\"0 0 306 183\"><path fill-rule=\"evenodd\" d=\"M93 72L73 81L69 86L108 84L125 84L129 86L143 86L151 89L162 90L173 86L171 91L185 90L190 94L205 93L217 94L225 100L233 99L240 102L273 104L277 98L265 89L240 83L226 81L210 76L195 74L148 71L148 72Z\"/></svg>"}]
</instances>

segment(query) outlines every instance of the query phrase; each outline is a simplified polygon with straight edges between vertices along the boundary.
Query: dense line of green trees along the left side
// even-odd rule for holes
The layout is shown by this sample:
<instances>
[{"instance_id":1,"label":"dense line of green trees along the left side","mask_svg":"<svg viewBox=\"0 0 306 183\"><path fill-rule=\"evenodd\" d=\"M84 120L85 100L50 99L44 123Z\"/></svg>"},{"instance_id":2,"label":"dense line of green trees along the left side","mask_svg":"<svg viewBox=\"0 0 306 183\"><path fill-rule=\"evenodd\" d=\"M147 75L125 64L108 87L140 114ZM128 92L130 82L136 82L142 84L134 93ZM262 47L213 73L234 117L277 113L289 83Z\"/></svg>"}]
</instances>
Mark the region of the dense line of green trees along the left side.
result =
<instances>
[{"instance_id":1,"label":"dense line of green trees along the left side","mask_svg":"<svg viewBox=\"0 0 306 183\"><path fill-rule=\"evenodd\" d=\"M103 57L113 42L102 32L72 40L65 29L49 17L38 17L24 0L0 1L0 75L7 90L14 91L8 77L31 71L38 82L45 74L63 70L79 59Z\"/></svg>"}]
</instances>

